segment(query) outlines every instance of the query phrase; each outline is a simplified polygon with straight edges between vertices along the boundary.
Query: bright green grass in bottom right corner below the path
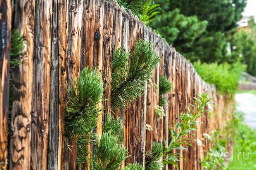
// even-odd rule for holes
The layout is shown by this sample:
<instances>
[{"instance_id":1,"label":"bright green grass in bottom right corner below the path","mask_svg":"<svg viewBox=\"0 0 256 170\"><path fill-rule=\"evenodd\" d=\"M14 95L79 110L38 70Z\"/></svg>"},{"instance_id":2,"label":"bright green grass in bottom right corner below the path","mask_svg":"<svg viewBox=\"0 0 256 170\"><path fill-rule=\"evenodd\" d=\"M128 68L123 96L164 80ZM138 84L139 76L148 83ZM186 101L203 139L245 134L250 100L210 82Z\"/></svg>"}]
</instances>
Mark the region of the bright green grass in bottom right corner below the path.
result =
<instances>
[{"instance_id":1,"label":"bright green grass in bottom right corner below the path","mask_svg":"<svg viewBox=\"0 0 256 170\"><path fill-rule=\"evenodd\" d=\"M256 169L256 132L244 123L239 123L234 139L233 156L228 170ZM243 156L244 155L244 156Z\"/></svg>"}]
</instances>

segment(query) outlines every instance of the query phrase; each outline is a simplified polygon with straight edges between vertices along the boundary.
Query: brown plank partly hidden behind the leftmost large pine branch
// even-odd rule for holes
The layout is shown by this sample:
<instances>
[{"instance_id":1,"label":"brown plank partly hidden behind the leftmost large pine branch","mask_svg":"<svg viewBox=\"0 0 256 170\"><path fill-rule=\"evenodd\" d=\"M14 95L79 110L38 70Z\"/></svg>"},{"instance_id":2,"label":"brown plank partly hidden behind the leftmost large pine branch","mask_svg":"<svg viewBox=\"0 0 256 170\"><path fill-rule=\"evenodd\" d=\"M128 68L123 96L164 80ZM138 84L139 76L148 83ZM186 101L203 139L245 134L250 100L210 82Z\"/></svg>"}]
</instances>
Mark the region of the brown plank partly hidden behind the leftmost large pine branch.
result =
<instances>
[{"instance_id":1,"label":"brown plank partly hidden behind the leftmost large pine branch","mask_svg":"<svg viewBox=\"0 0 256 170\"><path fill-rule=\"evenodd\" d=\"M69 87L79 77L81 61L81 38L83 21L83 2L69 1L69 40L67 56L67 83ZM69 149L64 149L64 169L76 170L77 137L66 138Z\"/></svg>"}]
</instances>

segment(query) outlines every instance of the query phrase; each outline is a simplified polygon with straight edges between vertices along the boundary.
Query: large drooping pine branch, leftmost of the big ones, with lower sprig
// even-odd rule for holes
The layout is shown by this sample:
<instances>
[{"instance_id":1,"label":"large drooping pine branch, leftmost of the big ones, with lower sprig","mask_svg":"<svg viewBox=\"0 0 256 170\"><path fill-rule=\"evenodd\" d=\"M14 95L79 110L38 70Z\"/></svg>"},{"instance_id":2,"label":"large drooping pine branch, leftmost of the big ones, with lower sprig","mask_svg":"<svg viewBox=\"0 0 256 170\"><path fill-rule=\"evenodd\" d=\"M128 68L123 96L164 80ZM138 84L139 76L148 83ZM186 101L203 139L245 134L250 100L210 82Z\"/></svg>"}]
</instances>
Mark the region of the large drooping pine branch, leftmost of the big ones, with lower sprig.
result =
<instances>
[{"instance_id":1,"label":"large drooping pine branch, leftmost of the big ones, with lower sprig","mask_svg":"<svg viewBox=\"0 0 256 170\"><path fill-rule=\"evenodd\" d=\"M94 68L84 68L78 79L68 89L65 113L65 136L71 139L77 135L77 164L86 161L88 145L92 142L91 131L97 125L103 101L101 75Z\"/></svg>"}]
</instances>

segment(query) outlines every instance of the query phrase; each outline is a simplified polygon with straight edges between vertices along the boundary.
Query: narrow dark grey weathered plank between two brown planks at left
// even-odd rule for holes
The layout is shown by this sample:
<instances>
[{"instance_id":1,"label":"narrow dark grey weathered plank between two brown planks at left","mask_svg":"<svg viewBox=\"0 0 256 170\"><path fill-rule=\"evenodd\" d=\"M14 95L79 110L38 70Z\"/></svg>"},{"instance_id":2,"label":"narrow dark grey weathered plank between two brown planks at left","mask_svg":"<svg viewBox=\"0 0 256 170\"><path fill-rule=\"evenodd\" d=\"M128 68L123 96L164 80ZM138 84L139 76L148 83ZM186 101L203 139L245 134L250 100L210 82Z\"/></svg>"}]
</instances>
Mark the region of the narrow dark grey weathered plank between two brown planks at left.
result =
<instances>
[{"instance_id":1,"label":"narrow dark grey weathered plank between two brown planks at left","mask_svg":"<svg viewBox=\"0 0 256 170\"><path fill-rule=\"evenodd\" d=\"M48 170L60 170L59 157L59 50L58 50L58 11L57 0L52 3L52 51L50 71L50 102L49 102L49 141L48 141ZM58 168L59 167L59 168Z\"/></svg>"}]
</instances>

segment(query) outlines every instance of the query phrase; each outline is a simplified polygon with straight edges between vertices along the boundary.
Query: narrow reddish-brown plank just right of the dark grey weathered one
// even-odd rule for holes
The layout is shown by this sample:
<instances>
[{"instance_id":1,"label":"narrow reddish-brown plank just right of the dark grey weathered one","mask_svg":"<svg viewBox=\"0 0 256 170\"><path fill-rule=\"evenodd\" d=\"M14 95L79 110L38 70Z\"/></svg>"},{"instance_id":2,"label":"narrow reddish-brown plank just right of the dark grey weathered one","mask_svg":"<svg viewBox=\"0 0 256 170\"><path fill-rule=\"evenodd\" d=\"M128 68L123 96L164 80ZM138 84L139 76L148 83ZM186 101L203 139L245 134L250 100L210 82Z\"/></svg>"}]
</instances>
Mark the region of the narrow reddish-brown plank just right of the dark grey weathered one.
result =
<instances>
[{"instance_id":1,"label":"narrow reddish-brown plank just right of the dark grey weathered one","mask_svg":"<svg viewBox=\"0 0 256 170\"><path fill-rule=\"evenodd\" d=\"M66 80L67 80L67 57L68 57L68 24L69 24L69 1L58 1L58 72L59 72L59 135L58 135L58 170L64 167L64 113L66 106ZM65 149L67 149L65 147Z\"/></svg>"}]
</instances>

